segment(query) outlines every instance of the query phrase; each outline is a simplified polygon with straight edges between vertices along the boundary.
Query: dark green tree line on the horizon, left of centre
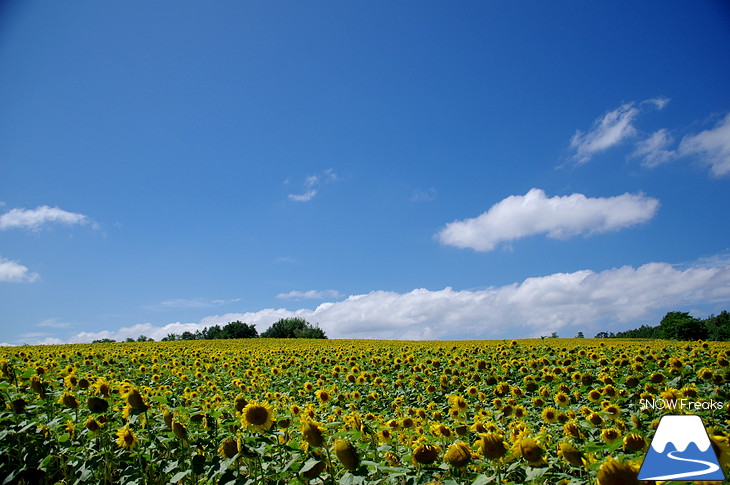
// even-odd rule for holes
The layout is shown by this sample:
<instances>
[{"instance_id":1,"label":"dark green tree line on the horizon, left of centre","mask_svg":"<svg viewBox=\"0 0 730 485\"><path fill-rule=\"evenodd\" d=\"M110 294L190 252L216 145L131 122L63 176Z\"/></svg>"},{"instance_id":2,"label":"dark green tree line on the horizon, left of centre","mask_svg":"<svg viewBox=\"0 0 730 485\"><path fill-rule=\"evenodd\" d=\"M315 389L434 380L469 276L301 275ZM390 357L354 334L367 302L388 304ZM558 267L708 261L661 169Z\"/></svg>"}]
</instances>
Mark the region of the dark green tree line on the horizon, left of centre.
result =
<instances>
[{"instance_id":1,"label":"dark green tree line on the horizon, left of centre","mask_svg":"<svg viewBox=\"0 0 730 485\"><path fill-rule=\"evenodd\" d=\"M213 325L205 327L203 330L195 332L185 331L181 334L168 333L162 338L162 342L171 342L175 340L218 340L233 338L327 338L324 331L319 325L312 325L303 318L282 318L274 322L266 331L259 335L256 327L248 323L236 320L228 322L221 327ZM154 339L145 335L140 335L137 339L127 338L125 342L150 342ZM113 339L94 340L93 343L115 342Z\"/></svg>"}]
</instances>

